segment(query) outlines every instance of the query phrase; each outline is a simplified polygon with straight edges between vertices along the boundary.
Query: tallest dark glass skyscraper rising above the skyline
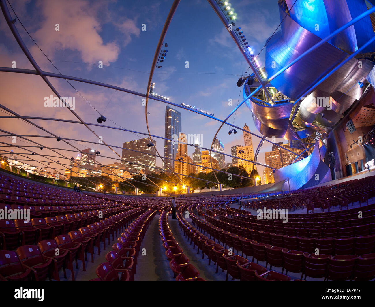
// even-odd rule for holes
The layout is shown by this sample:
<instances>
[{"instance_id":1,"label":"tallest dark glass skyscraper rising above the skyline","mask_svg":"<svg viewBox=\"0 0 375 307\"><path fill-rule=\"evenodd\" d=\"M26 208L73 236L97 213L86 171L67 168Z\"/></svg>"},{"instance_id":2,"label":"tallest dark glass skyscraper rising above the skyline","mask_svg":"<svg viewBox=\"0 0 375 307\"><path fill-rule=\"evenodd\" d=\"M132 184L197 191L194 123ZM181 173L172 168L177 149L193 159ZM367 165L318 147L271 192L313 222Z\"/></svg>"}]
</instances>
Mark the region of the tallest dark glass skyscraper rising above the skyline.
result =
<instances>
[{"instance_id":1,"label":"tallest dark glass skyscraper rising above the skyline","mask_svg":"<svg viewBox=\"0 0 375 307\"><path fill-rule=\"evenodd\" d=\"M174 169L174 160L177 155L178 133L181 132L181 113L165 106L165 130L164 130L164 159L163 170ZM169 159L168 159L169 158ZM169 166L169 168L168 168Z\"/></svg>"}]
</instances>

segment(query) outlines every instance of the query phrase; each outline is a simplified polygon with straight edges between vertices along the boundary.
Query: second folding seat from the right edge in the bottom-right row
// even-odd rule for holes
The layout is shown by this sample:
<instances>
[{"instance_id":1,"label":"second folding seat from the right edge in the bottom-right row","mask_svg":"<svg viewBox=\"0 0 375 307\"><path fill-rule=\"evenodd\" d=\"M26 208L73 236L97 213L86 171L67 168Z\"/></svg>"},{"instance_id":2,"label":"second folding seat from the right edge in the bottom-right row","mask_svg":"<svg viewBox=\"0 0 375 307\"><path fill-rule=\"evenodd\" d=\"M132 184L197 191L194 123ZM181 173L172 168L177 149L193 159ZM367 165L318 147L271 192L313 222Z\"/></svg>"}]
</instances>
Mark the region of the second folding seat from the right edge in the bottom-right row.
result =
<instances>
[{"instance_id":1,"label":"second folding seat from the right edge in the bottom-right row","mask_svg":"<svg viewBox=\"0 0 375 307\"><path fill-rule=\"evenodd\" d=\"M356 261L357 255L336 255L330 258L326 280L352 281Z\"/></svg>"}]
</instances>

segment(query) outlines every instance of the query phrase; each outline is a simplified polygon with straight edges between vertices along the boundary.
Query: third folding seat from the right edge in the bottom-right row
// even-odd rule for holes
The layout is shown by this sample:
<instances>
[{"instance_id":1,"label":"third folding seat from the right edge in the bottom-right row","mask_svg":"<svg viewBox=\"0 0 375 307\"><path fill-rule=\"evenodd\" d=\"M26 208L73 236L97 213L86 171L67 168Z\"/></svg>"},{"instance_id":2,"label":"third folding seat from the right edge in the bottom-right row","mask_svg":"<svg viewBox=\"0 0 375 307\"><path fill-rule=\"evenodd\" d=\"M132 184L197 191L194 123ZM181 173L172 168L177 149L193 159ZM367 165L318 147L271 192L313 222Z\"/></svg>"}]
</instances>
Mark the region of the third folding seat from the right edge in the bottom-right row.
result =
<instances>
[{"instance_id":1,"label":"third folding seat from the right edge in the bottom-right row","mask_svg":"<svg viewBox=\"0 0 375 307\"><path fill-rule=\"evenodd\" d=\"M301 279L303 275L305 275L305 280L307 276L312 278L326 278L328 262L331 257L331 255L324 254L311 254L310 256L303 255L304 261Z\"/></svg>"}]
</instances>

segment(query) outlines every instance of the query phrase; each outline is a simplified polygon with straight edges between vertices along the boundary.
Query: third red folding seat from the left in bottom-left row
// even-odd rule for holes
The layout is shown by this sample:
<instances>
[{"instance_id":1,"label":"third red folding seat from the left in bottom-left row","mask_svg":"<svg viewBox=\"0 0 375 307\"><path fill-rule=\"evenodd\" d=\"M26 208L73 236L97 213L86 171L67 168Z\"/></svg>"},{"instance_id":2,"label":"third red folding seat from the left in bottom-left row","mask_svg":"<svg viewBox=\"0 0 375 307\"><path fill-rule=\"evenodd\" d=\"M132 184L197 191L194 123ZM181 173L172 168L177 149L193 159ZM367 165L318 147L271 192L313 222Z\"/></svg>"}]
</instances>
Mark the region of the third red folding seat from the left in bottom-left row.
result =
<instances>
[{"instance_id":1,"label":"third red folding seat from the left in bottom-left row","mask_svg":"<svg viewBox=\"0 0 375 307\"><path fill-rule=\"evenodd\" d=\"M58 246L55 242L55 240L43 240L38 243L38 247L40 249L40 252L42 253L43 257L48 259L52 259L54 262L55 270L54 272L58 272L63 268L64 271L64 277L66 277L66 267L68 266L69 263L69 252L67 250L62 251L62 253L59 255L56 255L56 250L58 249ZM73 271L73 266L70 265L70 269L72 271L72 280L74 280L74 271ZM53 276L54 280L60 281L60 277L58 274L55 274Z\"/></svg>"}]
</instances>

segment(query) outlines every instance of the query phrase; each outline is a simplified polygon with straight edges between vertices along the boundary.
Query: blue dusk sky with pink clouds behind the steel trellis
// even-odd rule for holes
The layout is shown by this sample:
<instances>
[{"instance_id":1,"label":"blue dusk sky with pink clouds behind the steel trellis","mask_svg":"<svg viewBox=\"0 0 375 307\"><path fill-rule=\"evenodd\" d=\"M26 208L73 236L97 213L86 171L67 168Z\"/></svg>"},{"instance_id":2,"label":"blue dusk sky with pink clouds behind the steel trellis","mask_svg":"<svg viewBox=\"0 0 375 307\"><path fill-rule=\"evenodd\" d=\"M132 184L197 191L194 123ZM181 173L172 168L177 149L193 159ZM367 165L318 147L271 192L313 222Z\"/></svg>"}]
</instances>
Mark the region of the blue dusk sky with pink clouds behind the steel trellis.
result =
<instances>
[{"instance_id":1,"label":"blue dusk sky with pink clouds behind the steel trellis","mask_svg":"<svg viewBox=\"0 0 375 307\"><path fill-rule=\"evenodd\" d=\"M117 85L140 93L148 90L147 81L153 56L172 0L9 2L18 16L15 22L17 30L40 69ZM234 0L230 3L237 13L236 27L242 28L255 54L261 51L267 38L280 23L277 2ZM15 18L10 7L9 10L12 18ZM58 31L56 24L59 26ZM181 1L164 42L168 43L168 52L165 61L161 63L162 67L154 72L154 91L168 96L169 101L178 105L194 105L213 113L216 118L225 119L238 101L242 100L242 88L237 87L236 82L249 67L208 1ZM264 63L264 54L265 50L259 56L261 63ZM13 37L4 16L0 14L0 66L12 67L14 61L17 68L34 69ZM102 68L99 68L99 61L103 62ZM186 68L186 61L189 62L189 68ZM104 124L108 126L147 133L142 97L77 81L69 81L69 84L65 79L48 79L60 96L75 97L74 111L85 122L96 123L96 118L104 115L107 118ZM45 107L44 99L51 94L51 89L40 76L0 72L1 105L22 116L77 120L67 108ZM233 105L229 105L230 99ZM220 122L177 109L181 112L181 132L202 135L203 147L209 148ZM0 111L0 116L7 115L3 109L0 108ZM163 137L165 103L148 100L148 112L151 134ZM102 156L118 158L82 124L36 119L31 121L62 138L94 142L90 145L69 141L81 150L90 147L99 150ZM251 132L260 135L254 126L251 111L245 104L228 122L239 127L246 123ZM0 119L0 129L14 135L49 135L20 119ZM119 147L122 147L123 142L145 137L138 133L98 126L92 126L92 129L107 144ZM242 131L228 135L228 130L229 126L223 126L217 137L224 144L225 153L230 154L231 146L243 145L244 142ZM36 153L55 155L47 147L74 150L68 144L57 142L55 138L29 139L46 147L43 151L39 146L33 148ZM254 136L252 139L255 151L260 139ZM164 141L155 140L157 150L163 155ZM10 137L0 137L0 141L12 144ZM17 145L32 144L17 138ZM264 163L264 152L270 151L271 147L272 144L264 143L258 157L260 162ZM3 148L10 149L12 147ZM114 150L121 156L121 149ZM190 156L193 151L194 148L189 147ZM67 157L77 155L69 151L60 152ZM69 163L67 159L59 160ZM105 157L98 157L97 160L102 164L115 161ZM226 157L225 162L231 162L230 157ZM162 166L160 158L156 159L156 165ZM51 166L54 164L51 163ZM263 167L258 167L258 171L262 174Z\"/></svg>"}]
</instances>

